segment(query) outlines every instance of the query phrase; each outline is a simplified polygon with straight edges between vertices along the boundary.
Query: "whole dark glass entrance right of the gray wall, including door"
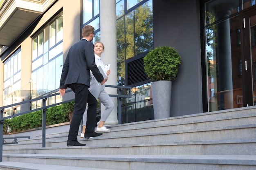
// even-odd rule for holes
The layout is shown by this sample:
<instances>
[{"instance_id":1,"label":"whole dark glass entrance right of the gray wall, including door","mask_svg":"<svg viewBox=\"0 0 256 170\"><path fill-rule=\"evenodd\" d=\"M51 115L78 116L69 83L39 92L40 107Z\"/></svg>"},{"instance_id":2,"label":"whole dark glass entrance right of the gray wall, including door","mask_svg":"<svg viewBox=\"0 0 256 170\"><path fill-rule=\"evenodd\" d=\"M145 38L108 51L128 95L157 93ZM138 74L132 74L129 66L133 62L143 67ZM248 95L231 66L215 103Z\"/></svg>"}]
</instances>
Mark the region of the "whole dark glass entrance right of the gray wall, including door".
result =
<instances>
[{"instance_id":1,"label":"whole dark glass entrance right of the gray wall, including door","mask_svg":"<svg viewBox=\"0 0 256 170\"><path fill-rule=\"evenodd\" d=\"M255 78L252 77L256 76L256 20L249 17L249 22L245 22L246 17L243 20L240 17L247 13L247 8L254 5L255 0L234 0L232 4L211 0L205 3L209 111L255 105L256 92L248 91L247 87L250 82L253 86L255 84ZM248 35L252 40L249 43L246 40ZM246 44L251 44L250 55L246 55ZM254 102L250 104L252 100Z\"/></svg>"}]
</instances>

